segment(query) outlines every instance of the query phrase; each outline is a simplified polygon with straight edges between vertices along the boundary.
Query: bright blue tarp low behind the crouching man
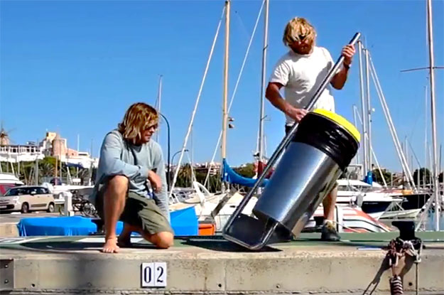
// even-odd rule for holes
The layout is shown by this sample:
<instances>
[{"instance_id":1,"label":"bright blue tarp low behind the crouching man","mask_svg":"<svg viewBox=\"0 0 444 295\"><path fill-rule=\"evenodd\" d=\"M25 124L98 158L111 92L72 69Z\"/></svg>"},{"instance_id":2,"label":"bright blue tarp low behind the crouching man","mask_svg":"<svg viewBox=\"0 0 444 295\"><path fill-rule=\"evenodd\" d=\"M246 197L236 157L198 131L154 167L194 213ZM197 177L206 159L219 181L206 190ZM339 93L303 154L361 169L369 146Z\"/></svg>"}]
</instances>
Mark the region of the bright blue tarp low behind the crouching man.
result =
<instances>
[{"instance_id":1,"label":"bright blue tarp low behind the crouching man","mask_svg":"<svg viewBox=\"0 0 444 295\"><path fill-rule=\"evenodd\" d=\"M199 222L194 207L170 213L171 226L176 236L197 235ZM91 218L82 216L22 218L18 222L20 236L35 235L91 235L97 232L97 225ZM123 230L123 222L117 222L117 234Z\"/></svg>"}]
</instances>

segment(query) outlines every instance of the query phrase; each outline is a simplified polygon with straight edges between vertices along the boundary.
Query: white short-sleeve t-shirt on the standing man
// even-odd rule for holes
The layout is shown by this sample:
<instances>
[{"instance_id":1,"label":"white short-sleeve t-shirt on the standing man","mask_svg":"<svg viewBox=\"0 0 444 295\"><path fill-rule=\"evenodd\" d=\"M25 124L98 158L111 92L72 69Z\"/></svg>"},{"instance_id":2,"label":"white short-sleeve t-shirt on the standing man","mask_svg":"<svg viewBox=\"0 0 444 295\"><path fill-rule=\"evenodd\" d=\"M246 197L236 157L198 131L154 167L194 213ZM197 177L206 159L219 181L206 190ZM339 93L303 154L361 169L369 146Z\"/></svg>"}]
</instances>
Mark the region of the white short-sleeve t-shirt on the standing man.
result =
<instances>
[{"instance_id":1,"label":"white short-sleeve t-shirt on the standing man","mask_svg":"<svg viewBox=\"0 0 444 295\"><path fill-rule=\"evenodd\" d=\"M305 108L333 65L332 57L325 48L315 46L313 52L307 55L290 50L278 60L270 82L278 82L285 87L284 95L288 103L297 108ZM335 112L330 84L320 95L315 109ZM294 120L286 115L286 125L293 123Z\"/></svg>"}]
</instances>

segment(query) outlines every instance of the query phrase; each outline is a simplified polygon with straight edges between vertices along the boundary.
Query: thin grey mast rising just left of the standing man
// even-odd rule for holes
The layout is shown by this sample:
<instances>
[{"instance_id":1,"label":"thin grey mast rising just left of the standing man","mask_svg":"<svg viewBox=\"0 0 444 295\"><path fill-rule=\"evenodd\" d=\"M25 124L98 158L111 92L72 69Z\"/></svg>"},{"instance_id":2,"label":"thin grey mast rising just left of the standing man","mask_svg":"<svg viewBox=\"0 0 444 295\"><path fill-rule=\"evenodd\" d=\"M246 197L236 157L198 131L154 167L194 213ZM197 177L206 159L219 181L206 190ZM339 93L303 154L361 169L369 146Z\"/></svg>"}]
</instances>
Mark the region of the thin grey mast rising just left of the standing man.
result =
<instances>
[{"instance_id":1,"label":"thin grey mast rising just left of the standing man","mask_svg":"<svg viewBox=\"0 0 444 295\"><path fill-rule=\"evenodd\" d=\"M266 50L269 47L269 0L265 0L265 11L264 11L264 48L262 48L262 80L261 80L261 109L259 114L259 136L258 136L258 146L259 146L259 161L264 159L264 90L265 90L265 79L266 79Z\"/></svg>"}]
</instances>

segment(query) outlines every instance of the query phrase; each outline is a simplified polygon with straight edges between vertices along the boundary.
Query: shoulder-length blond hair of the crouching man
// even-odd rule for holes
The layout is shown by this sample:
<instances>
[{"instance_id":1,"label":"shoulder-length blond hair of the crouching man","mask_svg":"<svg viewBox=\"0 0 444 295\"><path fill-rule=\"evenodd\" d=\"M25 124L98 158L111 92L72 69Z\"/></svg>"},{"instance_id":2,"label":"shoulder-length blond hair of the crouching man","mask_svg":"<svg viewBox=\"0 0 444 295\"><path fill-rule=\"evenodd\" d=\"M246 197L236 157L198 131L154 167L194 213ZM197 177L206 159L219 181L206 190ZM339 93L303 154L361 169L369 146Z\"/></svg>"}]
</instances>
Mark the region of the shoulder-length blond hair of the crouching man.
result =
<instances>
[{"instance_id":1,"label":"shoulder-length blond hair of the crouching man","mask_svg":"<svg viewBox=\"0 0 444 295\"><path fill-rule=\"evenodd\" d=\"M142 132L158 122L158 112L151 105L136 102L126 111L124 119L117 128L124 139L132 144L141 142Z\"/></svg>"}]
</instances>

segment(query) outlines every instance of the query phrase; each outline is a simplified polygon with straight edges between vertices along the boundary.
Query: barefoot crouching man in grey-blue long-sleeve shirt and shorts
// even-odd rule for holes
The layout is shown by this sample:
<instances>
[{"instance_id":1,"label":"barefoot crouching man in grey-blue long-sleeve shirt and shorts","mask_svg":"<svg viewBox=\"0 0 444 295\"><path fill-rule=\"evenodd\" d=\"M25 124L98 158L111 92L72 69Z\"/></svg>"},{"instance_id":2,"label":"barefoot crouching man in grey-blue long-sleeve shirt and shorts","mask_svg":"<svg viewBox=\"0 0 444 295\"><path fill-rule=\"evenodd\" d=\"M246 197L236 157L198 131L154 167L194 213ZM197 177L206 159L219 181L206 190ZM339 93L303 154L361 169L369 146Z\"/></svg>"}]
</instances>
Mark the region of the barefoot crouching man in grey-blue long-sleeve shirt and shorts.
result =
<instances>
[{"instance_id":1,"label":"barefoot crouching man in grey-blue long-sleeve shirt and shorts","mask_svg":"<svg viewBox=\"0 0 444 295\"><path fill-rule=\"evenodd\" d=\"M173 245L162 150L151 139L157 127L156 109L139 102L104 138L93 193L104 220L102 252L116 253L119 246L131 246L131 232L139 232L159 248ZM119 238L117 220L124 222Z\"/></svg>"}]
</instances>

